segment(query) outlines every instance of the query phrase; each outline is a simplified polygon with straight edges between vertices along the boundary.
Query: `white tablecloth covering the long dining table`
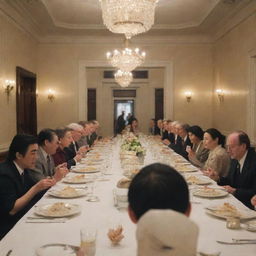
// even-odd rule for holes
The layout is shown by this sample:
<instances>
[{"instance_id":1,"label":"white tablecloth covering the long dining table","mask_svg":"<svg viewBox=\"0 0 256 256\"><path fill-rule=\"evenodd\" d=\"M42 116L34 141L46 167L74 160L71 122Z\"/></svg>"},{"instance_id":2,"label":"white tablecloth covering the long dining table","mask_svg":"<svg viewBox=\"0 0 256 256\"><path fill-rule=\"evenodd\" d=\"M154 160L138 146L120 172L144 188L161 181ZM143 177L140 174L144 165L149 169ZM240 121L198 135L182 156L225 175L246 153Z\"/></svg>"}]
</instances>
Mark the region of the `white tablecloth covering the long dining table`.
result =
<instances>
[{"instance_id":1,"label":"white tablecloth covering the long dining table","mask_svg":"<svg viewBox=\"0 0 256 256\"><path fill-rule=\"evenodd\" d=\"M142 142L145 147L153 147L156 140L142 136ZM10 256L32 256L36 255L37 248L43 245L61 243L61 244L80 244L80 229L93 226L97 229L96 256L132 256L136 255L136 224L129 219L127 209L115 206L113 190L116 189L117 182L123 177L123 170L120 162L120 145L121 138L115 138L111 142L106 142L104 154L108 157L109 165L102 165L100 168L107 168L102 173L90 174L97 175L97 182L94 188L94 194L99 198L97 202L87 201L88 196L60 199L49 195L46 192L40 201L36 203L13 229L0 241L0 255L5 256L11 250ZM97 148L97 147L96 147ZM103 147L102 147L103 148ZM156 162L156 156L153 150L161 148L155 146L148 149L144 165ZM97 149L101 149L98 147ZM165 149L167 150L167 149ZM173 152L172 152L173 153ZM174 154L174 153L173 153ZM160 159L161 161L162 159ZM195 167L193 167L195 168ZM200 170L193 174L202 175ZM69 176L75 175L70 172ZM89 174L88 174L89 175ZM205 177L204 177L205 178ZM56 187L65 186L63 182L59 182ZM70 184L69 184L70 185ZM72 187L86 186L85 184L71 184ZM212 182L209 187L216 187L216 183ZM226 245L220 244L217 240L231 241L234 239L256 239L256 233L245 229L242 224L240 229L228 229L226 220L216 218L206 213L206 207L210 204L222 204L229 202L236 207L246 208L232 195L223 198L209 199L192 196L195 186L191 187L191 204L192 211L190 218L199 226L198 251L204 253L220 252L221 256L255 256L256 244L243 245ZM42 219L34 219L35 209L43 204L51 204L56 202L65 202L78 204L81 212L74 216L65 218L63 221L41 221ZM246 210L246 209L245 209ZM29 221L32 220L32 221ZM107 233L114 225L121 224L123 226L124 239L118 245L112 245ZM184 241L185 243L186 241Z\"/></svg>"}]
</instances>

